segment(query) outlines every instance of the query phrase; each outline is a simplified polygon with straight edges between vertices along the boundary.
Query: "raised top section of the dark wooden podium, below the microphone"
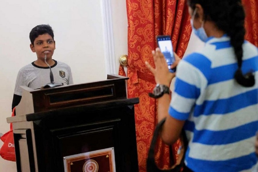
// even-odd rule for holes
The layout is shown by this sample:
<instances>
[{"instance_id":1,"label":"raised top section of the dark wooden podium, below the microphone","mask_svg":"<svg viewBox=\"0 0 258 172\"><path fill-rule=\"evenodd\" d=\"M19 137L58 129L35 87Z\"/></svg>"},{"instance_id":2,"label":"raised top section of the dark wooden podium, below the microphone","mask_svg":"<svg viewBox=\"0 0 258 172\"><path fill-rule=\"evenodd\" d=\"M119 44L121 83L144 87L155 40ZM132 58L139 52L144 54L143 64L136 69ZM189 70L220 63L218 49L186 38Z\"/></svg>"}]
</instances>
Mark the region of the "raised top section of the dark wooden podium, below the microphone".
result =
<instances>
[{"instance_id":1,"label":"raised top section of the dark wooden podium, below the microphone","mask_svg":"<svg viewBox=\"0 0 258 172\"><path fill-rule=\"evenodd\" d=\"M102 101L126 99L128 77L107 75L107 80L76 85L65 85L37 90L22 86L23 93L16 116L49 110L86 105Z\"/></svg>"}]
</instances>

